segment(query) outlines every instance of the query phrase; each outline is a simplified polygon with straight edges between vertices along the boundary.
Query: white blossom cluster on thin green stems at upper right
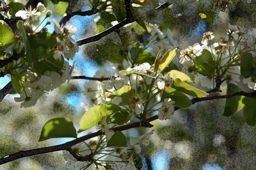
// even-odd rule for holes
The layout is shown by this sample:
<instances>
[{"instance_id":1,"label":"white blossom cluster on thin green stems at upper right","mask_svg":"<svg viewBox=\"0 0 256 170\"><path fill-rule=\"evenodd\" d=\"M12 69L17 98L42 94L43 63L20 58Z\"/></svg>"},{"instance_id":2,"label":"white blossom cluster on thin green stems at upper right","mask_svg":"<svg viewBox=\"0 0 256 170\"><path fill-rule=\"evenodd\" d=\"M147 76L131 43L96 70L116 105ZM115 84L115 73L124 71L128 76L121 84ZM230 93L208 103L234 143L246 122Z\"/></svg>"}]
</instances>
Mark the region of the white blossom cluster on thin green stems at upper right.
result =
<instances>
[{"instance_id":1,"label":"white blossom cluster on thin green stems at upper right","mask_svg":"<svg viewBox=\"0 0 256 170\"><path fill-rule=\"evenodd\" d=\"M220 42L209 43L214 39L211 31L204 33L202 45L195 43L187 49L180 50L180 63L183 65L182 70L186 73L192 73L193 67L198 65L195 58L202 55L204 50L211 54L212 60L216 63L216 71L212 75L202 75L193 72L196 81L199 81L206 88L213 88L214 78L221 77L230 83L236 84L243 79L243 83L248 84L251 89L255 88L255 80L253 77L244 79L241 77L241 54L250 52L253 59L256 58L256 30L245 30L240 26L228 25L227 36L221 37ZM225 85L225 84L222 84Z\"/></svg>"}]
</instances>

